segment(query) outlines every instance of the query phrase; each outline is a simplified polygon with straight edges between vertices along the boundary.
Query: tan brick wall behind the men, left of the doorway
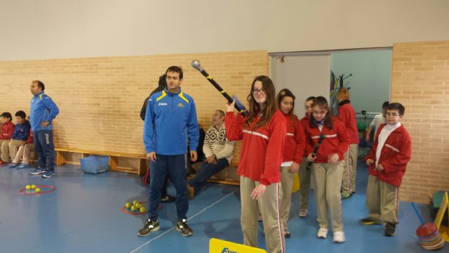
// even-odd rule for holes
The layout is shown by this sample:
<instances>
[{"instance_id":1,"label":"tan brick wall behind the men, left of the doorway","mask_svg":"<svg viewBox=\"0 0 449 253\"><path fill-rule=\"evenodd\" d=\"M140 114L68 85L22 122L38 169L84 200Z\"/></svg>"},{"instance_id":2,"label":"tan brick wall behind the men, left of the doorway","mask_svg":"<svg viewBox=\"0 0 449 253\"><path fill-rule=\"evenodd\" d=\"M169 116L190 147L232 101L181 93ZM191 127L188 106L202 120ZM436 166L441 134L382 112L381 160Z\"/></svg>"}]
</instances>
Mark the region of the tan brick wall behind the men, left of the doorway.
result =
<instances>
[{"instance_id":1,"label":"tan brick wall behind the men, left of the doorway","mask_svg":"<svg viewBox=\"0 0 449 253\"><path fill-rule=\"evenodd\" d=\"M3 61L0 110L28 113L29 84L40 79L60 108L54 121L55 146L145 153L140 108L168 66L184 69L181 87L194 98L205 130L213 110L225 110L225 99L190 66L194 59L201 61L223 89L241 100L248 95L255 76L269 74L265 51ZM239 147L234 154L239 154Z\"/></svg>"}]
</instances>

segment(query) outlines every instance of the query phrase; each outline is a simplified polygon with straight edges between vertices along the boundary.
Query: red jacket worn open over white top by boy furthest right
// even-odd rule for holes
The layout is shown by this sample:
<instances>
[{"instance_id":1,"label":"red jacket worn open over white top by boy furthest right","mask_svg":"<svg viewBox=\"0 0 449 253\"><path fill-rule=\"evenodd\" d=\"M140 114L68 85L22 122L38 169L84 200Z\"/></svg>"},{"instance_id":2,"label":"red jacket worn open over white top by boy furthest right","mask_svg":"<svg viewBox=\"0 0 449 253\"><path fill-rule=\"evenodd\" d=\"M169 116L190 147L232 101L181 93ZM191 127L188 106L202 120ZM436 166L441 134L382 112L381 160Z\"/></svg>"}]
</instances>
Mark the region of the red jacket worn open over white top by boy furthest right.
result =
<instances>
[{"instance_id":1,"label":"red jacket worn open over white top by boy furthest right","mask_svg":"<svg viewBox=\"0 0 449 253\"><path fill-rule=\"evenodd\" d=\"M377 179L380 181L399 187L401 186L402 177L406 173L407 163L412 156L412 139L406 128L402 125L392 131L387 140L385 140L380 152L379 162L377 162L377 164L382 164L384 170L377 171L375 169L377 141L380 131L382 131L385 125L381 124L379 126L373 148L365 157L365 160L374 160L368 169L370 175L377 176Z\"/></svg>"}]
</instances>

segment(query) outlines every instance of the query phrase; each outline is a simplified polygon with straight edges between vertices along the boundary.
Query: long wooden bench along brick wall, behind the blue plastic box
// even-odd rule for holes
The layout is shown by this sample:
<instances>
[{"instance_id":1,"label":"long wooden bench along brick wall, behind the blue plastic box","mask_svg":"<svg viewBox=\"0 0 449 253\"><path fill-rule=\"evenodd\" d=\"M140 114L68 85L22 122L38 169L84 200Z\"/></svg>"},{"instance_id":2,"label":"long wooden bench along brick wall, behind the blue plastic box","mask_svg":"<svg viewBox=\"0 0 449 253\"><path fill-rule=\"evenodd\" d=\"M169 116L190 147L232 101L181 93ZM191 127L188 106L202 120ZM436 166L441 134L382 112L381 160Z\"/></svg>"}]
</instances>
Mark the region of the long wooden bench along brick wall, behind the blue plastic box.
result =
<instances>
[{"instance_id":1,"label":"long wooden bench along brick wall, behind the blue plastic box","mask_svg":"<svg viewBox=\"0 0 449 253\"><path fill-rule=\"evenodd\" d=\"M133 173L142 175L147 172L148 162L147 155L145 154L135 154L135 153L121 153L121 152L107 152L99 150L85 150L81 148L55 148L56 152L56 165L62 165L67 163L64 153L78 153L81 154L81 158L88 157L89 155L103 155L109 157L109 169L112 171L121 171L127 173ZM130 167L119 167L119 157L138 159L138 169L135 170ZM76 163L78 164L78 163Z\"/></svg>"}]
</instances>

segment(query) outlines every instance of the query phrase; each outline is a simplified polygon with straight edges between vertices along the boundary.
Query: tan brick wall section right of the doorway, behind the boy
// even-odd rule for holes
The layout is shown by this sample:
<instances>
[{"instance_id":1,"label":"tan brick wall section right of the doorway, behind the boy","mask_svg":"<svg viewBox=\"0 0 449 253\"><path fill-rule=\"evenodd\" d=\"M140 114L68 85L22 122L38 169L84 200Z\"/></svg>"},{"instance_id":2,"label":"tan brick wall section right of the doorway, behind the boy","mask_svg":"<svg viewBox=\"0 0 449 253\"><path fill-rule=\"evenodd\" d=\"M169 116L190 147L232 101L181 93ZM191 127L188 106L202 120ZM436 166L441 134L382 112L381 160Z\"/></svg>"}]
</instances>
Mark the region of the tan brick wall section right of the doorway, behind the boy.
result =
<instances>
[{"instance_id":1,"label":"tan brick wall section right of the doorway, behind the boy","mask_svg":"<svg viewBox=\"0 0 449 253\"><path fill-rule=\"evenodd\" d=\"M449 41L394 44L391 78L413 147L401 199L427 202L427 193L449 190Z\"/></svg>"}]
</instances>

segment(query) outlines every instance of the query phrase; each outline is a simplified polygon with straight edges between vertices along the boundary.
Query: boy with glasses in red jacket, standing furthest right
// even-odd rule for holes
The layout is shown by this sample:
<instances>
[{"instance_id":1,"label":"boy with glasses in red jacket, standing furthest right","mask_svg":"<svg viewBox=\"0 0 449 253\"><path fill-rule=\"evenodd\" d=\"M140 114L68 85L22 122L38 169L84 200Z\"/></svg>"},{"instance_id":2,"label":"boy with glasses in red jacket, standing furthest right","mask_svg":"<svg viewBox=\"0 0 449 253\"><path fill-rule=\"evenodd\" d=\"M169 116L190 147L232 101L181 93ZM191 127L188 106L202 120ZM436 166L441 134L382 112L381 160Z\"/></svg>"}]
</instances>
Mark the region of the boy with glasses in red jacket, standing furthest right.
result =
<instances>
[{"instance_id":1,"label":"boy with glasses in red jacket, standing furthest right","mask_svg":"<svg viewBox=\"0 0 449 253\"><path fill-rule=\"evenodd\" d=\"M401 125L405 110L400 103L388 105L385 113L387 124L380 125L373 149L365 157L369 167L366 188L369 216L361 219L361 223L386 223L385 236L396 235L399 187L412 153L410 134Z\"/></svg>"}]
</instances>

